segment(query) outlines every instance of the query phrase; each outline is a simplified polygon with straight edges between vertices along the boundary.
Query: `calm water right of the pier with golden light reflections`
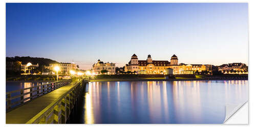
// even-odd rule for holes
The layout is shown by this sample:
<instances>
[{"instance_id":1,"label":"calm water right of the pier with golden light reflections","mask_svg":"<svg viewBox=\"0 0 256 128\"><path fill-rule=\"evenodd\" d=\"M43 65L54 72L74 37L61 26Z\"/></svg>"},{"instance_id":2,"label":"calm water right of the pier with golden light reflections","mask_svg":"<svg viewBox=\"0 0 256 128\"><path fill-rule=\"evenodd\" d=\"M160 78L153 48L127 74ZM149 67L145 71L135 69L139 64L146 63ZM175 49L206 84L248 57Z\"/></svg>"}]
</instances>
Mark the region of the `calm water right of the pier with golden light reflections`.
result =
<instances>
[{"instance_id":1,"label":"calm water right of the pier with golden light reflections","mask_svg":"<svg viewBox=\"0 0 256 128\"><path fill-rule=\"evenodd\" d=\"M68 123L223 123L247 80L89 82Z\"/></svg>"}]
</instances>

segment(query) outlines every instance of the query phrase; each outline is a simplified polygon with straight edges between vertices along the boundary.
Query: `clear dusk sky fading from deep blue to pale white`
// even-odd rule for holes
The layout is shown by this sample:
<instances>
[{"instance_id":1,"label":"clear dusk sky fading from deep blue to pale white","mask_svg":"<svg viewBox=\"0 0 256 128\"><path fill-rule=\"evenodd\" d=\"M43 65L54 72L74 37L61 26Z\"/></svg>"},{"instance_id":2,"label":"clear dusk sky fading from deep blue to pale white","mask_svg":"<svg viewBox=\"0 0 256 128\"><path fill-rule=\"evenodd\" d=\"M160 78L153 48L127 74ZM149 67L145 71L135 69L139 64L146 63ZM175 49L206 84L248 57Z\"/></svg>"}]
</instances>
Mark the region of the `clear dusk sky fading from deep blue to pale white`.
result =
<instances>
[{"instance_id":1,"label":"clear dusk sky fading from deep blue to pale white","mask_svg":"<svg viewBox=\"0 0 256 128\"><path fill-rule=\"evenodd\" d=\"M248 64L248 4L6 4L6 56Z\"/></svg>"}]
</instances>

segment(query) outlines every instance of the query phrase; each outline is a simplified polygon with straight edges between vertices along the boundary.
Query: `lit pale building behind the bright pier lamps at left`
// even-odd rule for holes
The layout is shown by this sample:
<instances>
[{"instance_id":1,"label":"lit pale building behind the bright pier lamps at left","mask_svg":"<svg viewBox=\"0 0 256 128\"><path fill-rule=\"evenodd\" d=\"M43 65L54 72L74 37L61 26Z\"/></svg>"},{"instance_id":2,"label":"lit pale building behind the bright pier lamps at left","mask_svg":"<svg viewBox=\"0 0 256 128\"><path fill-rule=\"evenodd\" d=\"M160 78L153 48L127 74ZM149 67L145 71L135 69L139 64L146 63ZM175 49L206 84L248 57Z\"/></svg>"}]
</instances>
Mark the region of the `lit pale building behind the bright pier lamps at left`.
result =
<instances>
[{"instance_id":1,"label":"lit pale building behind the bright pier lamps at left","mask_svg":"<svg viewBox=\"0 0 256 128\"><path fill-rule=\"evenodd\" d=\"M61 62L61 63L50 63L49 69L54 71L54 67L58 66L60 74L70 74L70 70L77 70L78 66L75 63Z\"/></svg>"}]
</instances>

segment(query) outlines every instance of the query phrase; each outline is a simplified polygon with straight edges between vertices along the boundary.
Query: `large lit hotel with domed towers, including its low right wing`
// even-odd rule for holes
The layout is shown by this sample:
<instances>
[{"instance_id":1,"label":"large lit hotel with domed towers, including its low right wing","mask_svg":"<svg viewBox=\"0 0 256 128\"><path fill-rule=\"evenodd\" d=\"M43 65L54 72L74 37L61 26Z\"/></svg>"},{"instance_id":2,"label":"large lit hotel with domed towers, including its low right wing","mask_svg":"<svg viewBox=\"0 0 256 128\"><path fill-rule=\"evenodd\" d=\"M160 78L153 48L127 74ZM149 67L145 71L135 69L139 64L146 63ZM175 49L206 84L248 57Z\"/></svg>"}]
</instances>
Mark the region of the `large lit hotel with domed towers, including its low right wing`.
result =
<instances>
[{"instance_id":1,"label":"large lit hotel with domed towers, including its low right wing","mask_svg":"<svg viewBox=\"0 0 256 128\"><path fill-rule=\"evenodd\" d=\"M178 57L174 54L168 60L153 60L151 55L146 60L139 60L138 56L133 54L131 60L124 67L124 71L136 72L138 74L165 74L166 69L173 69L173 74L194 74L196 72L210 71L211 65L186 65L178 64Z\"/></svg>"}]
</instances>

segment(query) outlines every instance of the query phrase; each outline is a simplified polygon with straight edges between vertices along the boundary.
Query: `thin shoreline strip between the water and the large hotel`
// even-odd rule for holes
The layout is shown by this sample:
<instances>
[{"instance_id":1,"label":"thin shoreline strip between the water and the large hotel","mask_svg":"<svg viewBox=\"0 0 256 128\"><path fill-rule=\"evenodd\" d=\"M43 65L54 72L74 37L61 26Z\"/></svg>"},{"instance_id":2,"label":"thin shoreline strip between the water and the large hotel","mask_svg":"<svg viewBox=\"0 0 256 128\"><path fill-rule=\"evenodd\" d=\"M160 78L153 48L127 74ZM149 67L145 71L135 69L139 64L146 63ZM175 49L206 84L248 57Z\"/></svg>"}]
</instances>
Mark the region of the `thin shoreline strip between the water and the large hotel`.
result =
<instances>
[{"instance_id":1,"label":"thin shoreline strip between the water and the large hotel","mask_svg":"<svg viewBox=\"0 0 256 128\"><path fill-rule=\"evenodd\" d=\"M108 81L209 81L209 79L204 78L185 78L185 79L164 79L164 78L105 78L105 79L91 79L89 82L108 82ZM248 79L211 79L211 80L248 80Z\"/></svg>"}]
</instances>

